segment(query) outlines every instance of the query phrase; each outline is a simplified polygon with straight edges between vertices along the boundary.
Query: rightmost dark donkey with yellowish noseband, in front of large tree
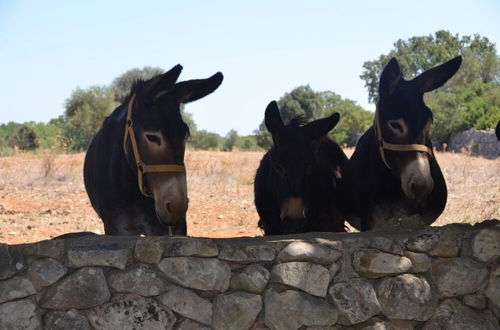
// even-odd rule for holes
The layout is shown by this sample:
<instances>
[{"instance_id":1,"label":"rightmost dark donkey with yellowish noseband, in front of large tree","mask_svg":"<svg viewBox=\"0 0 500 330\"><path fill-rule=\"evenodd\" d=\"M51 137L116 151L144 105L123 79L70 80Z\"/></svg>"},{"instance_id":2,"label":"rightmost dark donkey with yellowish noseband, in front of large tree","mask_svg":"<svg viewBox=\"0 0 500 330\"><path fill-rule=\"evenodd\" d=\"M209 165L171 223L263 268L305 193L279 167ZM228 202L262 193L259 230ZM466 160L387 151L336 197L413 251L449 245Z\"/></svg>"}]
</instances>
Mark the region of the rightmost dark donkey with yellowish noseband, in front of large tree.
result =
<instances>
[{"instance_id":1,"label":"rightmost dark donkey with yellowish noseband, in front of large tree","mask_svg":"<svg viewBox=\"0 0 500 330\"><path fill-rule=\"evenodd\" d=\"M392 58L382 71L374 124L342 167L343 212L361 231L430 225L446 205L446 182L429 138L423 95L460 67L458 56L412 80Z\"/></svg>"}]
</instances>

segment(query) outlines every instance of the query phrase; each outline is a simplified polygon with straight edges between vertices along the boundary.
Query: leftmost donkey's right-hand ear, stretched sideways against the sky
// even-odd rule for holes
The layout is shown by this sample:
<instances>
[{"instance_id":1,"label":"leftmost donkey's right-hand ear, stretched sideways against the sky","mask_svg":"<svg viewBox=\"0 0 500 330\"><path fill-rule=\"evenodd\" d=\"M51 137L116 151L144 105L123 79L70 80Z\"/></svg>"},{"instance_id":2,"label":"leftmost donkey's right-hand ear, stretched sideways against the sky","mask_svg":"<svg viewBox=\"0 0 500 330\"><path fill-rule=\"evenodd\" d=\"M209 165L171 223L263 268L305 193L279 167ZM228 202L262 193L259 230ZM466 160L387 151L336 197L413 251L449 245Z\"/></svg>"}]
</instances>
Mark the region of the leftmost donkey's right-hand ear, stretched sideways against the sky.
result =
<instances>
[{"instance_id":1,"label":"leftmost donkey's right-hand ear, stretched sideways against the sky","mask_svg":"<svg viewBox=\"0 0 500 330\"><path fill-rule=\"evenodd\" d=\"M178 103L188 103L201 99L212 93L220 86L224 76L217 72L207 79L194 79L180 82L175 85L172 95Z\"/></svg>"}]
</instances>

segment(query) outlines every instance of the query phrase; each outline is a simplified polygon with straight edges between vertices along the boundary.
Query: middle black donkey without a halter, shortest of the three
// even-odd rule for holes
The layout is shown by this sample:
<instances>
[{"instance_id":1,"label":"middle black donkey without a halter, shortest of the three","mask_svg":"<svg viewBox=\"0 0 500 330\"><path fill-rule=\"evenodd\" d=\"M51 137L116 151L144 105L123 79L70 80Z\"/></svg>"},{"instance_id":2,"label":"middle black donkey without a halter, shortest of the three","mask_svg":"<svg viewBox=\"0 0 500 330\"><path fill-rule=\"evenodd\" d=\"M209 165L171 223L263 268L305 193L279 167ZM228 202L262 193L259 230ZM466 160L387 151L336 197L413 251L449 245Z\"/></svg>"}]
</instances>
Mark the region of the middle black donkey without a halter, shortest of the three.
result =
<instances>
[{"instance_id":1,"label":"middle black donkey without a halter, shortest of the three","mask_svg":"<svg viewBox=\"0 0 500 330\"><path fill-rule=\"evenodd\" d=\"M301 117L284 125L277 103L267 106L265 125L274 145L262 158L254 185L264 235L344 231L334 201L347 157L326 136L338 121L335 113L306 125Z\"/></svg>"}]
</instances>

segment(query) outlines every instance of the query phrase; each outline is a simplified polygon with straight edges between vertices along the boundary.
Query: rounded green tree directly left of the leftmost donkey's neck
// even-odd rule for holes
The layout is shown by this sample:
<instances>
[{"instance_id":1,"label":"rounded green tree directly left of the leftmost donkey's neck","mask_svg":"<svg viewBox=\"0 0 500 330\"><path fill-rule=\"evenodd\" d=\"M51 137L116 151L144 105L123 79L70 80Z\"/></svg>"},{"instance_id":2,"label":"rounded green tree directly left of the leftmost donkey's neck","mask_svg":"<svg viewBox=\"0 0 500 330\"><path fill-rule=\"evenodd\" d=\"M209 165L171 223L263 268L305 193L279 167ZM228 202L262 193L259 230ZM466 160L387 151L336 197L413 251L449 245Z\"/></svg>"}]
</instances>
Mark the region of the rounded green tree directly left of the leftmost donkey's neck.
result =
<instances>
[{"instance_id":1,"label":"rounded green tree directly left of the leftmost donkey's neck","mask_svg":"<svg viewBox=\"0 0 500 330\"><path fill-rule=\"evenodd\" d=\"M104 118L116 107L114 93L107 87L77 88L66 100L62 126L69 150L85 150Z\"/></svg>"}]
</instances>

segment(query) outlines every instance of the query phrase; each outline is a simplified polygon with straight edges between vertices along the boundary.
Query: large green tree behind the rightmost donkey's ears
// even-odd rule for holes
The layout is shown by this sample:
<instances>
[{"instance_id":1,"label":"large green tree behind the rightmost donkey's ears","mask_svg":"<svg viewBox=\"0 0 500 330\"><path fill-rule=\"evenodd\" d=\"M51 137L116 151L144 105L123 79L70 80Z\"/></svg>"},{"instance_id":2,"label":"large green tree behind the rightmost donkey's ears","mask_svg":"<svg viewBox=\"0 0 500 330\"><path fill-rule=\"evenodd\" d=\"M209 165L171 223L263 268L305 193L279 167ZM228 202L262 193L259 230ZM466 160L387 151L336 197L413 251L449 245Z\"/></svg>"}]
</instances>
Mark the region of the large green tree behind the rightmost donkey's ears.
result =
<instances>
[{"instance_id":1,"label":"large green tree behind the rightmost donkey's ears","mask_svg":"<svg viewBox=\"0 0 500 330\"><path fill-rule=\"evenodd\" d=\"M463 63L455 76L425 94L434 116L430 134L439 148L456 132L493 128L500 120L500 57L494 43L478 34L460 37L443 30L400 39L388 54L365 62L360 77L368 88L369 100L375 102L379 72L391 57L398 59L405 78L412 79L459 54Z\"/></svg>"}]
</instances>

